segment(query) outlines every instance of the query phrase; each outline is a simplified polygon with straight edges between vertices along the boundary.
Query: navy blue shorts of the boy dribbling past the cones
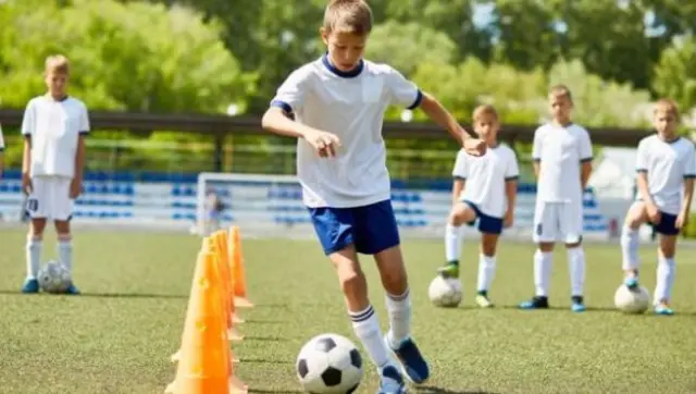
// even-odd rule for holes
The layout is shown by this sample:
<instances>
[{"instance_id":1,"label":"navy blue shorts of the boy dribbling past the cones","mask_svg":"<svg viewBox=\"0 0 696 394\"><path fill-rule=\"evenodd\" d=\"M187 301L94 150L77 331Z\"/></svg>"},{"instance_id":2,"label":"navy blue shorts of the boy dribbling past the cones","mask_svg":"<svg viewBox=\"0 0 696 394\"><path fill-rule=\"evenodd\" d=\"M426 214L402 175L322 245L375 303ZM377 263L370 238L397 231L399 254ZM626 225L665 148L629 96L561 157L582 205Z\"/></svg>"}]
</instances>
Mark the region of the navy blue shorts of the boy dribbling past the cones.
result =
<instances>
[{"instance_id":1,"label":"navy blue shorts of the boy dribbling past the cones","mask_svg":"<svg viewBox=\"0 0 696 394\"><path fill-rule=\"evenodd\" d=\"M391 200L355 208L309 208L309 213L326 256L350 244L363 255L400 244Z\"/></svg>"}]
</instances>

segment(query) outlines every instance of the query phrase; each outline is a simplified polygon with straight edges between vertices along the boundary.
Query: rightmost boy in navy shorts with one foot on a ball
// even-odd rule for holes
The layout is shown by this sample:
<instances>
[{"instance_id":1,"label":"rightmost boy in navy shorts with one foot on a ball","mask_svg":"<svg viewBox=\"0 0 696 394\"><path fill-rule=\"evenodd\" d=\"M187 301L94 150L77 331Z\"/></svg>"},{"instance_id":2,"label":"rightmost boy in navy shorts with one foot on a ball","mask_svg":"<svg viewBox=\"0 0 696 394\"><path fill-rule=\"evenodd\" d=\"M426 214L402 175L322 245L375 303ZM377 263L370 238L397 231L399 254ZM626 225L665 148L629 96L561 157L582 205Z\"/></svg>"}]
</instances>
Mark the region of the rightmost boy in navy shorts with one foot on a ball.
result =
<instances>
[{"instance_id":1,"label":"rightmost boy in navy shorts with one foot on a ball","mask_svg":"<svg viewBox=\"0 0 696 394\"><path fill-rule=\"evenodd\" d=\"M694 197L696 150L694 143L675 135L679 109L672 100L659 100L652 124L656 134L638 144L636 171L638 194L629 209L621 233L624 283L638 288L638 229L650 223L660 235L655 313L671 316L674 253L680 230L686 225Z\"/></svg>"}]
</instances>

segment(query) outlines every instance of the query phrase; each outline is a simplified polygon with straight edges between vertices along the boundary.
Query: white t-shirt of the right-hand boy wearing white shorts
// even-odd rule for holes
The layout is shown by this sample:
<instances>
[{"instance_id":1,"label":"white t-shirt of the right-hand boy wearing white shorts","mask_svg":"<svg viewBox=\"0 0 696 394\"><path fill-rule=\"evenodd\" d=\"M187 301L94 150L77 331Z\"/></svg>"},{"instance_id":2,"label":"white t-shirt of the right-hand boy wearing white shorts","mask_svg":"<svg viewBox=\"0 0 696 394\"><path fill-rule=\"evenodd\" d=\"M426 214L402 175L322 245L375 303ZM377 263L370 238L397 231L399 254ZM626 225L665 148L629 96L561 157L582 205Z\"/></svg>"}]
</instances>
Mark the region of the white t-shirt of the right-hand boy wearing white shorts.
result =
<instances>
[{"instance_id":1,"label":"white t-shirt of the right-hand boy wearing white shorts","mask_svg":"<svg viewBox=\"0 0 696 394\"><path fill-rule=\"evenodd\" d=\"M539 162L537 198L545 202L582 201L580 167L592 160L589 133L574 123L542 125L534 132L532 158Z\"/></svg>"}]
</instances>

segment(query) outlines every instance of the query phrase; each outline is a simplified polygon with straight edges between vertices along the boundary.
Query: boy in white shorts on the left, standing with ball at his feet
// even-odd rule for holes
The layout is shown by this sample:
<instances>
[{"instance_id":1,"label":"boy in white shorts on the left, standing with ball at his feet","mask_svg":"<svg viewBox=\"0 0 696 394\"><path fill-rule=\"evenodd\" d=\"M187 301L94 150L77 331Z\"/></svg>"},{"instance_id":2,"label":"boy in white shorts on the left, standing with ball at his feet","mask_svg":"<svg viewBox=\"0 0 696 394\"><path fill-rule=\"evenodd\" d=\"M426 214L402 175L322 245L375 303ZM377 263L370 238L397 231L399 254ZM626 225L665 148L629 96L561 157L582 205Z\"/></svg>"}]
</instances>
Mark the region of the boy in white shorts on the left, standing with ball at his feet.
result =
<instances>
[{"instance_id":1,"label":"boy in white shorts on the left, standing with ball at his feet","mask_svg":"<svg viewBox=\"0 0 696 394\"><path fill-rule=\"evenodd\" d=\"M44 230L51 219L58 233L58 256L72 270L73 247L70 220L74 199L80 193L85 161L85 136L89 133L87 108L66 94L70 64L63 56L46 59L48 91L32 99L24 112L24 161L22 186L28 195L32 218L26 245L27 278L23 293L37 293ZM74 284L67 294L79 294Z\"/></svg>"}]
</instances>

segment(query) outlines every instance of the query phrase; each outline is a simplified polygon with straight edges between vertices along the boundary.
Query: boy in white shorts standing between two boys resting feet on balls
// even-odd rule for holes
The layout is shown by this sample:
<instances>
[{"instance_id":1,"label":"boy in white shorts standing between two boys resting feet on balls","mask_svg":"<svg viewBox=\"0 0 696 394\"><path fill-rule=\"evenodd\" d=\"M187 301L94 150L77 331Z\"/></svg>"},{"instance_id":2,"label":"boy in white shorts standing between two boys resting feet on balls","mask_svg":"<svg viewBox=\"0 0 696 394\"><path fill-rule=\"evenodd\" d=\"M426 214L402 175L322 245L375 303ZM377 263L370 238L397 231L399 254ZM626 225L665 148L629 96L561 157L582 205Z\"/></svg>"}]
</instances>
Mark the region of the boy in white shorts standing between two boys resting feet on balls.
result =
<instances>
[{"instance_id":1,"label":"boy in white shorts standing between two boys resting feet on balls","mask_svg":"<svg viewBox=\"0 0 696 394\"><path fill-rule=\"evenodd\" d=\"M585 310L585 254L583 238L583 192L592 172L592 143L587 131L571 122L571 91L563 85L551 87L549 106L554 120L534 133L532 157L537 177L534 210L534 284L536 294L522 309L548 308L554 244L562 242L568 251L571 310Z\"/></svg>"}]
</instances>

